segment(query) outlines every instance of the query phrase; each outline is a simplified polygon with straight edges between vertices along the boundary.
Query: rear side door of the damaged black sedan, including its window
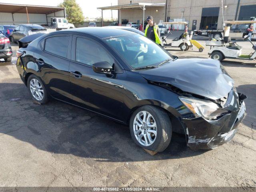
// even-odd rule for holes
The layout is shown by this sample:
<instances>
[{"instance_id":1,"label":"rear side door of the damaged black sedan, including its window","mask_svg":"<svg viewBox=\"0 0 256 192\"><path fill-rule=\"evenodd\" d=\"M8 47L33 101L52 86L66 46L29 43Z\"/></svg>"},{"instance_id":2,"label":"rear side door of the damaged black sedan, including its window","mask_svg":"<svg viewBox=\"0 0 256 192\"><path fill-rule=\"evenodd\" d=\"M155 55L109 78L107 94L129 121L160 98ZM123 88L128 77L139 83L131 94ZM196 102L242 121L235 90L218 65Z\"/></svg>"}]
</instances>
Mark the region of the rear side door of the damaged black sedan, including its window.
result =
<instances>
[{"instance_id":1,"label":"rear side door of the damaged black sedan, including its window","mask_svg":"<svg viewBox=\"0 0 256 192\"><path fill-rule=\"evenodd\" d=\"M51 96L71 102L69 63L72 35L52 35L42 40L42 49L34 52L40 77Z\"/></svg>"}]
</instances>

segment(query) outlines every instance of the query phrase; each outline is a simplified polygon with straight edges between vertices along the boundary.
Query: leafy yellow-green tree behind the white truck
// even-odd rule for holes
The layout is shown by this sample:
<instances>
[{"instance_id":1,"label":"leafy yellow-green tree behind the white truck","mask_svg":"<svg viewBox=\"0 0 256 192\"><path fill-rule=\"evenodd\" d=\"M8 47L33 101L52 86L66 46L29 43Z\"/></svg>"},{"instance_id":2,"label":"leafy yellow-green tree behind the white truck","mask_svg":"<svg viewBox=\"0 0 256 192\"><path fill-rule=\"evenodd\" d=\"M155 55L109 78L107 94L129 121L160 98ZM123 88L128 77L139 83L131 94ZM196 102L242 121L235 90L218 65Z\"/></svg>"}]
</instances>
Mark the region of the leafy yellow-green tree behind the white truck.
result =
<instances>
[{"instance_id":1,"label":"leafy yellow-green tree behind the white truck","mask_svg":"<svg viewBox=\"0 0 256 192\"><path fill-rule=\"evenodd\" d=\"M72 24L84 23L84 15L82 9L76 3L76 0L63 0L63 2L58 6L66 8L68 22Z\"/></svg>"}]
</instances>

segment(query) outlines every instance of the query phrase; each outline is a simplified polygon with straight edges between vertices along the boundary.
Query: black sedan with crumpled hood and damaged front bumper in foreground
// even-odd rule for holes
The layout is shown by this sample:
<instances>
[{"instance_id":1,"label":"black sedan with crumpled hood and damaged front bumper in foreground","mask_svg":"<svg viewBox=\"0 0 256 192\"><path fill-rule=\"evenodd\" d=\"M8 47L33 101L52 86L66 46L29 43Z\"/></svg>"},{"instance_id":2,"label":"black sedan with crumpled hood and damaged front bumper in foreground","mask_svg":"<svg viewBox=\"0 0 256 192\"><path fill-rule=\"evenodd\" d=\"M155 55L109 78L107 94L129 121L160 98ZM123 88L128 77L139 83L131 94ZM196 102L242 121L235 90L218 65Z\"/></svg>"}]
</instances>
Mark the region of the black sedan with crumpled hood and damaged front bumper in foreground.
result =
<instances>
[{"instance_id":1,"label":"black sedan with crumpled hood and damaged front bumper in foreground","mask_svg":"<svg viewBox=\"0 0 256 192\"><path fill-rule=\"evenodd\" d=\"M49 98L128 124L139 146L160 152L172 132L192 149L230 141L245 114L244 96L219 61L178 59L148 38L113 28L40 36L17 51L31 97Z\"/></svg>"}]
</instances>

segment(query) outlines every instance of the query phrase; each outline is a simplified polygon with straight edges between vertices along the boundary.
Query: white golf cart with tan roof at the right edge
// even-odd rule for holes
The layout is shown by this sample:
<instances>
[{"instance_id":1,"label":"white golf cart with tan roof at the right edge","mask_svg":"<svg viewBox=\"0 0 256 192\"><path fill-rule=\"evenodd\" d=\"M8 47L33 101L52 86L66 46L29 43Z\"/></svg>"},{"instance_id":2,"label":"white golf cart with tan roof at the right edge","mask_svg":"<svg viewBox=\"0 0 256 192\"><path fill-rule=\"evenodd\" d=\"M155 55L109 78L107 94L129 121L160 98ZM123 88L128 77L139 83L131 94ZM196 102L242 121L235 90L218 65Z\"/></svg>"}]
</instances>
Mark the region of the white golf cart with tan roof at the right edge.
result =
<instances>
[{"instance_id":1,"label":"white golf cart with tan roof at the right edge","mask_svg":"<svg viewBox=\"0 0 256 192\"><path fill-rule=\"evenodd\" d=\"M225 21L226 25L229 24L250 24L256 23L256 21ZM252 44L252 49L254 50L248 55L242 54L242 47L236 44L236 42L230 42L229 37L230 26L225 26L224 38L217 41L206 41L206 46L210 46L210 51L208 52L209 57L215 60L224 60L225 58L230 59L240 59L240 60L256 60L256 45L248 38L244 36L244 40L248 40Z\"/></svg>"}]
</instances>

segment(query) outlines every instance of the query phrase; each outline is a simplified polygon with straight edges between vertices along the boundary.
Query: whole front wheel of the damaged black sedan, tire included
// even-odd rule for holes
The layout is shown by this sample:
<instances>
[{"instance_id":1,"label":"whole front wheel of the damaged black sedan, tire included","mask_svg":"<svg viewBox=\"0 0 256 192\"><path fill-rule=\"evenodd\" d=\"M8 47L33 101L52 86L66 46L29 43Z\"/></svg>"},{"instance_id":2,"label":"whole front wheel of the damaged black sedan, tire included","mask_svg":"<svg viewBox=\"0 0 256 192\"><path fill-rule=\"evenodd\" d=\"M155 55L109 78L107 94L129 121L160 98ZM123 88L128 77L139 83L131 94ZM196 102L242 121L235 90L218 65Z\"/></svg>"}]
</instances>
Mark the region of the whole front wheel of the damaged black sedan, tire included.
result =
<instances>
[{"instance_id":1,"label":"whole front wheel of the damaged black sedan, tire included","mask_svg":"<svg viewBox=\"0 0 256 192\"><path fill-rule=\"evenodd\" d=\"M152 118L150 118L149 120L149 124L153 123L151 124L152 126L155 124L155 128L148 128L146 124L143 123L142 124L144 126L141 126L142 124L140 124L140 120L143 121L143 119L141 118L142 116L144 117L144 114L146 113L152 116ZM140 116L140 120L138 120L138 116ZM138 124L134 124L135 121L138 122ZM152 131L156 132L156 136ZM135 132L138 132L138 134L136 134ZM172 124L168 114L163 109L156 106L145 105L138 108L132 114L130 118L130 134L132 136L132 139L138 146L154 152L162 152L170 144L172 138ZM146 138L144 137L144 135ZM151 139L151 142L149 137Z\"/></svg>"}]
</instances>

